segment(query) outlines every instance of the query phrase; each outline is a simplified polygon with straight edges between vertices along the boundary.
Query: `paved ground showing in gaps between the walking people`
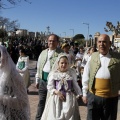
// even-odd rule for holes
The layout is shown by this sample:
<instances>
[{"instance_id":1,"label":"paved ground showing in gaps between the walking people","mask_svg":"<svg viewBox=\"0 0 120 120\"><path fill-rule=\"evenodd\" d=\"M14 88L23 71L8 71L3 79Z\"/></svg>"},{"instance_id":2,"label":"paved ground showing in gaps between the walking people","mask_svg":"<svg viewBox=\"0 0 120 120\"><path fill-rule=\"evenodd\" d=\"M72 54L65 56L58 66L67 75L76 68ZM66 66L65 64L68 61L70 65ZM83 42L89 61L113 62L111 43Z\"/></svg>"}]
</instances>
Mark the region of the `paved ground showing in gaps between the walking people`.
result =
<instances>
[{"instance_id":1,"label":"paved ground showing in gaps between the walking people","mask_svg":"<svg viewBox=\"0 0 120 120\"><path fill-rule=\"evenodd\" d=\"M38 105L38 90L35 88L35 74L36 74L36 61L30 60L30 78L31 78L31 86L29 87L29 102L30 102L30 110L31 110L31 120L35 120L36 112L37 112L37 105ZM80 110L80 116L81 120L86 120L87 115L87 108L84 106L83 102L79 100L79 110ZM120 97L118 102L118 116L117 120L120 120Z\"/></svg>"}]
</instances>

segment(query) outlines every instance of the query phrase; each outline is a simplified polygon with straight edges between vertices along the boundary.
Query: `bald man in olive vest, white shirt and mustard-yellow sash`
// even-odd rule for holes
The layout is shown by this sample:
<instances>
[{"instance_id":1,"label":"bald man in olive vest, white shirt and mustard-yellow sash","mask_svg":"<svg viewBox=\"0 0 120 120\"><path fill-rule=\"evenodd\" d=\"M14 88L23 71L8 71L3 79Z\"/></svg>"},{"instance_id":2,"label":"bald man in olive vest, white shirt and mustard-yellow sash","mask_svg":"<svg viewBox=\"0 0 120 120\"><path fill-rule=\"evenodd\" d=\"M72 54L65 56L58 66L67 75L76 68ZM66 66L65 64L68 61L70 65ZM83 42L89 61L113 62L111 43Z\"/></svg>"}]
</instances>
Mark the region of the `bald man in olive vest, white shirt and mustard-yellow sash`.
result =
<instances>
[{"instance_id":1,"label":"bald man in olive vest, white shirt and mustard-yellow sash","mask_svg":"<svg viewBox=\"0 0 120 120\"><path fill-rule=\"evenodd\" d=\"M87 104L87 120L116 120L120 90L120 54L109 52L110 38L101 34L98 52L89 58L83 73L83 102Z\"/></svg>"}]
</instances>

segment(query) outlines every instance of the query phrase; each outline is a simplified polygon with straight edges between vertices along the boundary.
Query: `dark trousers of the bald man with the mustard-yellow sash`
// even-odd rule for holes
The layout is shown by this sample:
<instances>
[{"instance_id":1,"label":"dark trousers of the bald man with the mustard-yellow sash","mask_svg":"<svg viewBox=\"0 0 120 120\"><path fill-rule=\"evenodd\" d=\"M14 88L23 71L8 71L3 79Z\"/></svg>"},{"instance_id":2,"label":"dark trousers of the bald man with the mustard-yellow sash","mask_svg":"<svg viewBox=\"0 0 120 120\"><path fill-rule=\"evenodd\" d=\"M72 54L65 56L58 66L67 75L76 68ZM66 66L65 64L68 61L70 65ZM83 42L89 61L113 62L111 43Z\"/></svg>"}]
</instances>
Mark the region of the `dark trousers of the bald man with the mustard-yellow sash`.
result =
<instances>
[{"instance_id":1,"label":"dark trousers of the bald man with the mustard-yellow sash","mask_svg":"<svg viewBox=\"0 0 120 120\"><path fill-rule=\"evenodd\" d=\"M88 92L87 120L116 120L118 97L103 98Z\"/></svg>"}]
</instances>

